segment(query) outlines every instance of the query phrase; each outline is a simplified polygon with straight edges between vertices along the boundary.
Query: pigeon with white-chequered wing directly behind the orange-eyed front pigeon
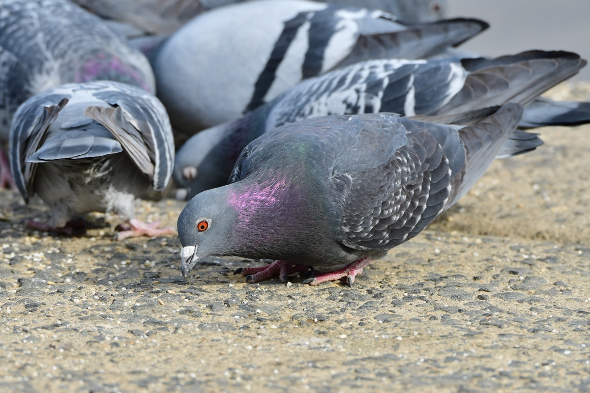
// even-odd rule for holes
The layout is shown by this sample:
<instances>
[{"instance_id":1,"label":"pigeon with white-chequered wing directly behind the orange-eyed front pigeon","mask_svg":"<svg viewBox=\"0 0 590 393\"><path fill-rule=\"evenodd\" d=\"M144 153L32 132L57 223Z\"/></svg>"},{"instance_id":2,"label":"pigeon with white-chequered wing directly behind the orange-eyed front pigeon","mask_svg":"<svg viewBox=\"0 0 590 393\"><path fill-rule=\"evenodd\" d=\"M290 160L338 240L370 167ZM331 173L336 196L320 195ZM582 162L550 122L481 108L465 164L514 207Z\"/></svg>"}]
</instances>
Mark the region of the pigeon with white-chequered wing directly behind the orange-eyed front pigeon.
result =
<instances>
[{"instance_id":1,"label":"pigeon with white-chequered wing directly behind the orange-eyed front pigeon","mask_svg":"<svg viewBox=\"0 0 590 393\"><path fill-rule=\"evenodd\" d=\"M287 123L340 114L457 114L508 101L524 105L585 64L570 52L528 51L491 60L371 60L340 68L301 82L239 120L191 137L176 154L177 197L190 199L227 184L244 147ZM535 126L555 124L558 118L552 120L537 106L526 107L525 118L530 110ZM559 114L568 117L563 110ZM589 114L586 108L586 121ZM575 119L583 120L583 113Z\"/></svg>"}]
</instances>

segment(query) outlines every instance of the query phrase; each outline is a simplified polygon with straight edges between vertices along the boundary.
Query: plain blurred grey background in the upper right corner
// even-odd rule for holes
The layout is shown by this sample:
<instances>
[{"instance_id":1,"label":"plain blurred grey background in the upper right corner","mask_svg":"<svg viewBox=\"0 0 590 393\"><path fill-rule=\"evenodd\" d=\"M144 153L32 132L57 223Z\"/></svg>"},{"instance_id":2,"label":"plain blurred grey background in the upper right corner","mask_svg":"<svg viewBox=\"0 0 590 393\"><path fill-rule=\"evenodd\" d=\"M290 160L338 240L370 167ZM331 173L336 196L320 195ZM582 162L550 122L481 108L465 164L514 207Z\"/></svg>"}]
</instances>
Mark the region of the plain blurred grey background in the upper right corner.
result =
<instances>
[{"instance_id":1,"label":"plain blurred grey background in the upper right corner","mask_svg":"<svg viewBox=\"0 0 590 393\"><path fill-rule=\"evenodd\" d=\"M590 0L447 0L448 18L473 16L490 29L462 49L499 56L526 49L563 49L590 60ZM572 81L590 80L586 66Z\"/></svg>"}]
</instances>

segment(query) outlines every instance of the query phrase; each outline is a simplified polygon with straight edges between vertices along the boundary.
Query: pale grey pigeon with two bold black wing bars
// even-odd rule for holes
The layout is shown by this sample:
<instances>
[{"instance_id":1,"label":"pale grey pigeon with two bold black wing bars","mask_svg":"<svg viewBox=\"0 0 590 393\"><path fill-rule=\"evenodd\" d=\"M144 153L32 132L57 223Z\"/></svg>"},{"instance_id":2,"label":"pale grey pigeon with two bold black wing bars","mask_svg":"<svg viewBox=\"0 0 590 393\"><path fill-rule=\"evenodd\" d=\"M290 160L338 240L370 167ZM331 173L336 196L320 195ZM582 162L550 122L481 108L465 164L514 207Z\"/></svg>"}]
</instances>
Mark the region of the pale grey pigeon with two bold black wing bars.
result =
<instances>
[{"instance_id":1,"label":"pale grey pigeon with two bold black wing bars","mask_svg":"<svg viewBox=\"0 0 590 393\"><path fill-rule=\"evenodd\" d=\"M152 60L175 131L240 118L303 79L372 58L421 58L486 29L477 19L407 27L383 11L258 0L192 19Z\"/></svg>"}]
</instances>

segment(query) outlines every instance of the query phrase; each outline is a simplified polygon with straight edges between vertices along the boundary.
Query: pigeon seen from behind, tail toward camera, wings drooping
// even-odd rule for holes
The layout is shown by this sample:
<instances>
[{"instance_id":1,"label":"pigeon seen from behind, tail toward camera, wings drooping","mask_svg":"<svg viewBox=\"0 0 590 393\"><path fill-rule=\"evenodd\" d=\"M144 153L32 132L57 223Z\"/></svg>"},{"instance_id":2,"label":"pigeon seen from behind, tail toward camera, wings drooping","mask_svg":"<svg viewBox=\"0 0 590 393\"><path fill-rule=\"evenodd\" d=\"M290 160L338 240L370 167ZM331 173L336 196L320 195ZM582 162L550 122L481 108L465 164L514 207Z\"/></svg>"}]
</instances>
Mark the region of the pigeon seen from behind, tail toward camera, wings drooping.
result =
<instances>
[{"instance_id":1,"label":"pigeon seen from behind, tail toward camera, wings drooping","mask_svg":"<svg viewBox=\"0 0 590 393\"><path fill-rule=\"evenodd\" d=\"M128 230L117 239L173 229L135 219L136 197L165 189L174 143L168 115L153 95L111 81L65 84L25 101L10 134L12 175L25 202L38 194L51 209L39 230L74 215L114 212Z\"/></svg>"}]
</instances>

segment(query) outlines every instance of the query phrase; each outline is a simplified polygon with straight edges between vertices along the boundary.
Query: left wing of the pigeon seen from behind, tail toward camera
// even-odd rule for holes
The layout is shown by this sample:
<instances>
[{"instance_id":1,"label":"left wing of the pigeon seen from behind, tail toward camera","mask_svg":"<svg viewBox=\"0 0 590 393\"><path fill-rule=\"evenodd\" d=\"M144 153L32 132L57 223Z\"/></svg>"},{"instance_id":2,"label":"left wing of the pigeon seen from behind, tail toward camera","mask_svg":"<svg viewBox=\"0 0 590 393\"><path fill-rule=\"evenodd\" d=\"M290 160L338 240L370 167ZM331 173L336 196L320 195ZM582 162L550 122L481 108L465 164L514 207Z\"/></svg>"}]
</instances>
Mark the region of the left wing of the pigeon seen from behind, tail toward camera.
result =
<instances>
[{"instance_id":1,"label":"left wing of the pigeon seen from behind, tail toward camera","mask_svg":"<svg viewBox=\"0 0 590 393\"><path fill-rule=\"evenodd\" d=\"M12 123L9 150L12 177L25 202L32 196L36 162L27 162L42 145L47 129L68 103L63 95L42 95L25 101L18 108Z\"/></svg>"}]
</instances>

